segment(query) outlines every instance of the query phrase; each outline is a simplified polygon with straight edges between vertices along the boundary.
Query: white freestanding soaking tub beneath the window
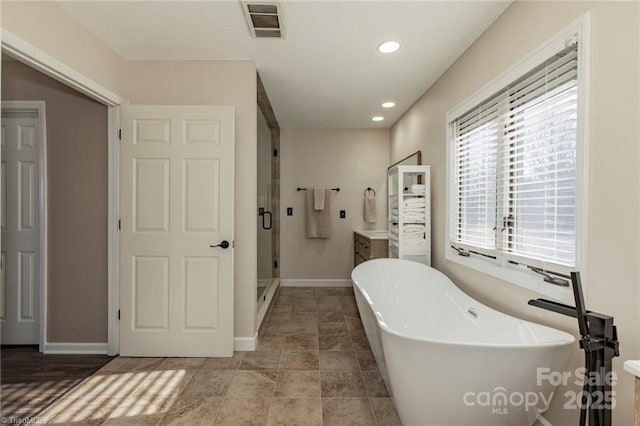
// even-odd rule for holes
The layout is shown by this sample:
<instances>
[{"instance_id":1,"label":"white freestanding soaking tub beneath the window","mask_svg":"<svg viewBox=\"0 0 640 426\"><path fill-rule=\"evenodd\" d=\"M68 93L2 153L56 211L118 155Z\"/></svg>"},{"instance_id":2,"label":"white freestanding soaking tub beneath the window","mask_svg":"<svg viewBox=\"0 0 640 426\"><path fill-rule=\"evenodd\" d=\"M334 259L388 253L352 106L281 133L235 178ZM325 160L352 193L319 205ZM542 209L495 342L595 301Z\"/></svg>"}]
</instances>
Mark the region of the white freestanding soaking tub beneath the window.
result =
<instances>
[{"instance_id":1,"label":"white freestanding soaking tub beneath the window","mask_svg":"<svg viewBox=\"0 0 640 426\"><path fill-rule=\"evenodd\" d=\"M546 411L572 335L495 311L421 263L370 260L351 278L403 425L531 425Z\"/></svg>"}]
</instances>

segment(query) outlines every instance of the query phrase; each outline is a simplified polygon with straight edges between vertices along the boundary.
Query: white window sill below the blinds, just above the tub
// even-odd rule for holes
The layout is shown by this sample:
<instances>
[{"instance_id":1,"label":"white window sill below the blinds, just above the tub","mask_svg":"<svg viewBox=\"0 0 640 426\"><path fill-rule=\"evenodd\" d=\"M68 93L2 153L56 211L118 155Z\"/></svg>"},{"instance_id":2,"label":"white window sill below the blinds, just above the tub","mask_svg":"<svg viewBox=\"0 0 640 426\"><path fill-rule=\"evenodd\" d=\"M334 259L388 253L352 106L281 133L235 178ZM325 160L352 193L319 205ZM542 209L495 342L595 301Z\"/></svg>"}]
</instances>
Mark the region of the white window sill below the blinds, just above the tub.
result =
<instances>
[{"instance_id":1,"label":"white window sill below the blinds, just above the tub","mask_svg":"<svg viewBox=\"0 0 640 426\"><path fill-rule=\"evenodd\" d=\"M463 257L458 255L455 250L449 247L446 251L446 259L457 263L458 265L466 266L467 268L483 274L491 275L495 278L517 285L518 287L533 291L558 302L566 303L571 306L575 304L571 287L560 287L544 282L542 277L534 272L519 270L517 267L511 267L509 265L501 267L491 261L474 257L473 255L470 257Z\"/></svg>"}]
</instances>

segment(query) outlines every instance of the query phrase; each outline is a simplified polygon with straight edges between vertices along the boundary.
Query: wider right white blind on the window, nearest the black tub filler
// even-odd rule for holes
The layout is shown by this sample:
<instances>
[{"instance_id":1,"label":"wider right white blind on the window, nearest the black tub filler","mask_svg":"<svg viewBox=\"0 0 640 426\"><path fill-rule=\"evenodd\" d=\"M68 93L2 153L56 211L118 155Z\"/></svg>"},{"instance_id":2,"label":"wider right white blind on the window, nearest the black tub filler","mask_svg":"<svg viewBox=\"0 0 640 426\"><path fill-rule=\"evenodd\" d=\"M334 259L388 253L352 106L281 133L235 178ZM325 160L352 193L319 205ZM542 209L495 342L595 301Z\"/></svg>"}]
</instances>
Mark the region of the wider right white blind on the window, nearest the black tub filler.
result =
<instances>
[{"instance_id":1,"label":"wider right white blind on the window, nearest the black tub filler","mask_svg":"<svg viewBox=\"0 0 640 426\"><path fill-rule=\"evenodd\" d=\"M507 258L545 269L576 264L577 56L571 46L508 88L500 237Z\"/></svg>"}]
</instances>

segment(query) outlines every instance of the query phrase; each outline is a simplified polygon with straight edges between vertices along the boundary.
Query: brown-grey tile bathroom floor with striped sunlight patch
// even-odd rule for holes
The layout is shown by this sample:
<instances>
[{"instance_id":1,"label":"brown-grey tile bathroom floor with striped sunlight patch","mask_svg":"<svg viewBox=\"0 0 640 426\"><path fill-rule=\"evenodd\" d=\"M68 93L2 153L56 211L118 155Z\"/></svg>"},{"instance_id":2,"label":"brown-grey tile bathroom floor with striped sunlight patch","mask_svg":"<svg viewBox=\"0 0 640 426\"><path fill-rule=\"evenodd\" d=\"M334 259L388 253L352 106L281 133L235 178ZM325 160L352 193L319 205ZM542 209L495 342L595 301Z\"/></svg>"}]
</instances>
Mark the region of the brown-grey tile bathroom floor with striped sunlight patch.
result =
<instances>
[{"instance_id":1,"label":"brown-grey tile bathroom floor with striped sunlight patch","mask_svg":"<svg viewBox=\"0 0 640 426\"><path fill-rule=\"evenodd\" d=\"M399 425L350 288L281 288L255 352L118 357L42 414L76 425Z\"/></svg>"}]
</instances>

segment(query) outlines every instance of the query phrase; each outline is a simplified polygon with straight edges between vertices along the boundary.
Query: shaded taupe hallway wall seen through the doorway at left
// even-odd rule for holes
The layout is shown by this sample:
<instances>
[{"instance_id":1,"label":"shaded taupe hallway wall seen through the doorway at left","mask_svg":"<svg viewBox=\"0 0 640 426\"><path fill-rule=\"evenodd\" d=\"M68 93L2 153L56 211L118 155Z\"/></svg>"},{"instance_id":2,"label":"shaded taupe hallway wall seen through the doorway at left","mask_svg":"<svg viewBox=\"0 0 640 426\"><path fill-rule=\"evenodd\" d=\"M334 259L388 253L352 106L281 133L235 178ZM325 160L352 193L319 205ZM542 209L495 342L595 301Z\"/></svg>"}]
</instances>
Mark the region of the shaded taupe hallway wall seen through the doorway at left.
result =
<instances>
[{"instance_id":1,"label":"shaded taupe hallway wall seen through the doorway at left","mask_svg":"<svg viewBox=\"0 0 640 426\"><path fill-rule=\"evenodd\" d=\"M107 341L107 108L20 62L2 100L44 100L48 168L47 341Z\"/></svg>"}]
</instances>

